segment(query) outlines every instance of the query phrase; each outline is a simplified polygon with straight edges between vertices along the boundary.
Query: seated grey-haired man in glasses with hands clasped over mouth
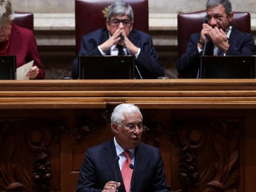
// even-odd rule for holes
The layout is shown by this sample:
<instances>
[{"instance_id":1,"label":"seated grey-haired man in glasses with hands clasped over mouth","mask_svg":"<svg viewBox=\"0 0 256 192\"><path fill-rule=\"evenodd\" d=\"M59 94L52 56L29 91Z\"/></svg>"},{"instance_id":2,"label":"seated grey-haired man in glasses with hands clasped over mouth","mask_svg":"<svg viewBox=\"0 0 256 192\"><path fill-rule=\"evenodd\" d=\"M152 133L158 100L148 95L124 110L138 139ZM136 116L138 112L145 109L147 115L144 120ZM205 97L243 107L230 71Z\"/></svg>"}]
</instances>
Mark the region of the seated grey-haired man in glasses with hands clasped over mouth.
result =
<instances>
[{"instance_id":1,"label":"seated grey-haired man in glasses with hands clasped over mouth","mask_svg":"<svg viewBox=\"0 0 256 192\"><path fill-rule=\"evenodd\" d=\"M115 1L109 7L106 27L83 36L79 56L114 56L118 54L117 45L120 45L124 54L135 56L135 64L140 73L135 70L136 78L164 76L164 69L158 62L151 36L133 29L133 23L132 7L126 2ZM72 78L78 78L78 74L77 59L75 59Z\"/></svg>"}]
</instances>

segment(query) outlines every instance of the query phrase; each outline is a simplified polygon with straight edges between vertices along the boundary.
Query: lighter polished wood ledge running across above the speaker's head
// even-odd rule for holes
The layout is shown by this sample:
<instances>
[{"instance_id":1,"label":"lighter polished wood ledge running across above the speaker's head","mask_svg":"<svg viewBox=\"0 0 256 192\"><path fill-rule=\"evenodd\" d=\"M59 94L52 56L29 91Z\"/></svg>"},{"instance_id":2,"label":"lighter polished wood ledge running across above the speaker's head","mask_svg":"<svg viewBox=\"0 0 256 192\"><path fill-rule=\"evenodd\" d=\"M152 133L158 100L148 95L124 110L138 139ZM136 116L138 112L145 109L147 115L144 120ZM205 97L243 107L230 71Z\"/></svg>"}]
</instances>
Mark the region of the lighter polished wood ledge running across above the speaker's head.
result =
<instances>
[{"instance_id":1,"label":"lighter polished wood ledge running across above the speaker's head","mask_svg":"<svg viewBox=\"0 0 256 192\"><path fill-rule=\"evenodd\" d=\"M255 108L256 81L177 80L2 80L1 109L104 108L133 102L171 109Z\"/></svg>"}]
</instances>

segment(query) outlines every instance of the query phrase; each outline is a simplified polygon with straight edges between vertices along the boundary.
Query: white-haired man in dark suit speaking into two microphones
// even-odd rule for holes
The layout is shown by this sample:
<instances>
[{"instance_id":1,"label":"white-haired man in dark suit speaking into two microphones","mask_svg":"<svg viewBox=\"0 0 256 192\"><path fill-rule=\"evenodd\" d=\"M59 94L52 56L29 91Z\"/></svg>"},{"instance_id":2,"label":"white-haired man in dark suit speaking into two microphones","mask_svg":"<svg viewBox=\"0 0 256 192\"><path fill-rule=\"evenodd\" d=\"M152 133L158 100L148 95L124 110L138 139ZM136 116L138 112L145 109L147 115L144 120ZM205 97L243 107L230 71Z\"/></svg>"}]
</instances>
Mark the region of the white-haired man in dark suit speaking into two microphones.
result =
<instances>
[{"instance_id":1,"label":"white-haired man in dark suit speaking into two microphones","mask_svg":"<svg viewBox=\"0 0 256 192\"><path fill-rule=\"evenodd\" d=\"M170 191L159 149L141 142L145 129L139 107L134 104L116 106L111 114L114 136L106 143L87 149L77 191ZM128 190L121 173L125 152L129 154L132 171Z\"/></svg>"}]
</instances>

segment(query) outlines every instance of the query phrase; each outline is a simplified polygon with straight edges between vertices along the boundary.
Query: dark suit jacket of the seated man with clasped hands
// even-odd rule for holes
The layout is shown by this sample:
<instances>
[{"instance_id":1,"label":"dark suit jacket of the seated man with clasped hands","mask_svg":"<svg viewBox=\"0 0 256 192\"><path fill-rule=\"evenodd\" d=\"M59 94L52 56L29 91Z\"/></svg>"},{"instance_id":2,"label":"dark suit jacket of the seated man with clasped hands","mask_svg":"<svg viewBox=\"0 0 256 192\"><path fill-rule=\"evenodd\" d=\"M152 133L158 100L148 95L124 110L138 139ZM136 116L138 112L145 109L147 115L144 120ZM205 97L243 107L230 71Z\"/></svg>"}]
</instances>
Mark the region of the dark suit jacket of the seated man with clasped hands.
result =
<instances>
[{"instance_id":1,"label":"dark suit jacket of the seated man with clasped hands","mask_svg":"<svg viewBox=\"0 0 256 192\"><path fill-rule=\"evenodd\" d=\"M101 28L88 35L84 35L81 41L79 56L101 56L98 46L108 40L108 38L109 33L106 28ZM164 76L164 69L160 62L158 62L158 55L153 47L151 36L139 30L132 30L129 34L129 40L141 49L135 64L137 65L142 78L157 78ZM110 49L106 54L110 55ZM135 76L136 78L140 78L136 70ZM78 77L79 69L77 59L74 59L72 78L76 79Z\"/></svg>"}]
</instances>

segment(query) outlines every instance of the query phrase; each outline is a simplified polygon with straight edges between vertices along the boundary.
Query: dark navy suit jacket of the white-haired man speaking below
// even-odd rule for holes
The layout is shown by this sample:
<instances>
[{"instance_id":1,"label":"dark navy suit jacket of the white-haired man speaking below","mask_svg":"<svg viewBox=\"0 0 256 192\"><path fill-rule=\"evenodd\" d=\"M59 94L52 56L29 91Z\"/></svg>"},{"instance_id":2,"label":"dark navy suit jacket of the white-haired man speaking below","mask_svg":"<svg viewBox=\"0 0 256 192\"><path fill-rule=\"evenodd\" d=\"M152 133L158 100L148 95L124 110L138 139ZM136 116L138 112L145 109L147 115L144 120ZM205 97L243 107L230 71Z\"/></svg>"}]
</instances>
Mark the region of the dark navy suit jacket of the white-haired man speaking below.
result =
<instances>
[{"instance_id":1,"label":"dark navy suit jacket of the white-haired man speaking below","mask_svg":"<svg viewBox=\"0 0 256 192\"><path fill-rule=\"evenodd\" d=\"M101 192L109 181L116 181L114 162L116 149L114 140L88 148L80 167L77 192ZM117 182L121 182L119 192L125 192L122 175L116 162ZM170 191L166 183L163 160L158 148L140 143L135 149L134 172L131 182L132 192Z\"/></svg>"}]
</instances>

